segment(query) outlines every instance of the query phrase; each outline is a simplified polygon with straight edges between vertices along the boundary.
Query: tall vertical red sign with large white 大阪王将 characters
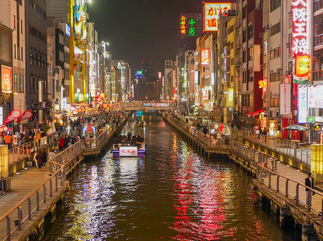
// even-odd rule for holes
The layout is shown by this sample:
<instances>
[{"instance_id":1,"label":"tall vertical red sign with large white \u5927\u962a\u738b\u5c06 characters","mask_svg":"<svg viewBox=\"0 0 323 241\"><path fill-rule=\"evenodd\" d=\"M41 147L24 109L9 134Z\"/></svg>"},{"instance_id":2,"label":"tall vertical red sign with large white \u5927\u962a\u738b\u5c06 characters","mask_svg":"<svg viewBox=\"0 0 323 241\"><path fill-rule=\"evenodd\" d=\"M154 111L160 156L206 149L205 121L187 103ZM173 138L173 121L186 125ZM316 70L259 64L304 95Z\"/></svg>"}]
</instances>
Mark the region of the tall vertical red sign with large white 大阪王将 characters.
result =
<instances>
[{"instance_id":1,"label":"tall vertical red sign with large white \u5927\u962a\u738b\u5c06 characters","mask_svg":"<svg viewBox=\"0 0 323 241\"><path fill-rule=\"evenodd\" d=\"M295 54L306 54L307 49L307 0L293 0L292 21L293 21L293 46Z\"/></svg>"}]
</instances>

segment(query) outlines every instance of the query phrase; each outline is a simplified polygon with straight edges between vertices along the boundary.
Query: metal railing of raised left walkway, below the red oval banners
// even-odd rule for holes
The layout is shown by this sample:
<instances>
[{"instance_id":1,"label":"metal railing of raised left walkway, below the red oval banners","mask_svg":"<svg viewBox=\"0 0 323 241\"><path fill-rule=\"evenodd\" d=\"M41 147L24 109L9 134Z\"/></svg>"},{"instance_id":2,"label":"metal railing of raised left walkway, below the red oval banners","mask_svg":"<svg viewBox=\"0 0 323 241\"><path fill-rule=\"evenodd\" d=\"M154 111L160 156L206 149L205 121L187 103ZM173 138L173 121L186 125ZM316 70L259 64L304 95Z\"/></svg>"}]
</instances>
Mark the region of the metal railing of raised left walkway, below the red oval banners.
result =
<instances>
[{"instance_id":1,"label":"metal railing of raised left walkway, below the red oval banners","mask_svg":"<svg viewBox=\"0 0 323 241\"><path fill-rule=\"evenodd\" d=\"M49 144L54 144L59 141L62 132L57 131L52 134L41 137L40 139L36 139L25 144L15 146L8 150L8 158L9 164L15 163L22 157L28 156L32 151L36 151L39 148L42 148Z\"/></svg>"}]
</instances>

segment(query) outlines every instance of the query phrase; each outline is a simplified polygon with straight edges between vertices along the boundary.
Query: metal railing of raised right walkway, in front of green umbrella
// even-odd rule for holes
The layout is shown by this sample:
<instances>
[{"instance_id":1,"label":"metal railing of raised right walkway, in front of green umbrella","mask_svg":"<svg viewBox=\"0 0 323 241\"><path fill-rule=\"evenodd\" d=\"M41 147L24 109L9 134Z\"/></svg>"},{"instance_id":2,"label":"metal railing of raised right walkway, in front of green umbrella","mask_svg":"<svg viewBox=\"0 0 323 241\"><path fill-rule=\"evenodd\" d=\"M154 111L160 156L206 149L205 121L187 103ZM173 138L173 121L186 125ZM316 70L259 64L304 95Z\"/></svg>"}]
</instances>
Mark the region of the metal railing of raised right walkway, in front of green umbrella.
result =
<instances>
[{"instance_id":1,"label":"metal railing of raised right walkway, in front of green umbrella","mask_svg":"<svg viewBox=\"0 0 323 241\"><path fill-rule=\"evenodd\" d=\"M281 140L275 137L270 137L262 134L256 134L249 129L243 129L244 138L265 145L273 150L284 154L291 155L298 159L302 164L310 166L311 152L310 150L300 147L292 142Z\"/></svg>"}]
</instances>

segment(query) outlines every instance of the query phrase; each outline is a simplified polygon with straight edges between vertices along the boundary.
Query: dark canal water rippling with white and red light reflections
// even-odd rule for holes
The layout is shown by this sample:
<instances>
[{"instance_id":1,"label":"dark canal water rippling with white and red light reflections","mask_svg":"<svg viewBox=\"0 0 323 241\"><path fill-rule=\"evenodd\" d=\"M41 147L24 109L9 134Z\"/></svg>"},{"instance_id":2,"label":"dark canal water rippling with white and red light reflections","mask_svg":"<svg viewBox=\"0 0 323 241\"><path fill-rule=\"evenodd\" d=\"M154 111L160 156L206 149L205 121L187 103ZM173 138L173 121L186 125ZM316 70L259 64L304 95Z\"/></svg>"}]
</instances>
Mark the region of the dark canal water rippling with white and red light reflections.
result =
<instances>
[{"instance_id":1,"label":"dark canal water rippling with white and red light reflections","mask_svg":"<svg viewBox=\"0 0 323 241\"><path fill-rule=\"evenodd\" d=\"M144 134L146 156L108 151L82 164L44 240L296 240L255 203L240 169L196 153L155 113L143 118L146 128L128 121L122 133Z\"/></svg>"}]
</instances>

